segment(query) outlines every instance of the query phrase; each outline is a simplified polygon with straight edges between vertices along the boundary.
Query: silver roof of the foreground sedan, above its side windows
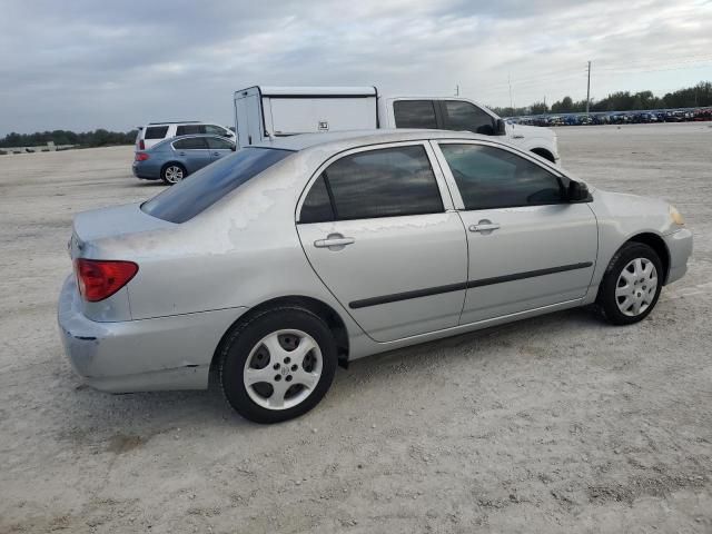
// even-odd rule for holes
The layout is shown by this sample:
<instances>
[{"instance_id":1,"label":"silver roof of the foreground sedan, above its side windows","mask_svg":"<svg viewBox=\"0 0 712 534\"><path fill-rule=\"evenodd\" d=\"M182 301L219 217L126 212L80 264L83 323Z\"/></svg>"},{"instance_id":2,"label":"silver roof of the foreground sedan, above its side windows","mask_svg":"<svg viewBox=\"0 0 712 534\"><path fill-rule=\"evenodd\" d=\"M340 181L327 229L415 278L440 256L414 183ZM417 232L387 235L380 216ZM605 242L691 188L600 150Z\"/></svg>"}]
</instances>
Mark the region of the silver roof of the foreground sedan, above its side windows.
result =
<instances>
[{"instance_id":1,"label":"silver roof of the foreground sedan, above its side windows","mask_svg":"<svg viewBox=\"0 0 712 534\"><path fill-rule=\"evenodd\" d=\"M373 145L383 142L422 141L427 139L482 139L492 140L490 136L469 131L426 130L426 129L377 129L329 131L324 134L299 134L295 136L275 137L253 145L260 148L278 148L300 151L312 147L328 148L329 145Z\"/></svg>"}]
</instances>

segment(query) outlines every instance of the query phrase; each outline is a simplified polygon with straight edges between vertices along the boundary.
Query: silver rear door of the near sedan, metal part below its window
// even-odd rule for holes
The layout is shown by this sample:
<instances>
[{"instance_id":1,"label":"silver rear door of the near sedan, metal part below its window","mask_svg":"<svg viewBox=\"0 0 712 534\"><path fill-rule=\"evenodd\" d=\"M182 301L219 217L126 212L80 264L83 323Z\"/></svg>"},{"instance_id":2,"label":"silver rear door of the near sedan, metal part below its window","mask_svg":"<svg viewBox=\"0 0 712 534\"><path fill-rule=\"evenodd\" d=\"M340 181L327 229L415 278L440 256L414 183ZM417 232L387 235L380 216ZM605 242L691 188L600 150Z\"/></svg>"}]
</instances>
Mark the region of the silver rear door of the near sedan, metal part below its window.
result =
<instances>
[{"instance_id":1,"label":"silver rear door of the near sedan, metal part below its window","mask_svg":"<svg viewBox=\"0 0 712 534\"><path fill-rule=\"evenodd\" d=\"M377 342L457 325L467 253L456 212L299 224L297 230L319 278Z\"/></svg>"}]
</instances>

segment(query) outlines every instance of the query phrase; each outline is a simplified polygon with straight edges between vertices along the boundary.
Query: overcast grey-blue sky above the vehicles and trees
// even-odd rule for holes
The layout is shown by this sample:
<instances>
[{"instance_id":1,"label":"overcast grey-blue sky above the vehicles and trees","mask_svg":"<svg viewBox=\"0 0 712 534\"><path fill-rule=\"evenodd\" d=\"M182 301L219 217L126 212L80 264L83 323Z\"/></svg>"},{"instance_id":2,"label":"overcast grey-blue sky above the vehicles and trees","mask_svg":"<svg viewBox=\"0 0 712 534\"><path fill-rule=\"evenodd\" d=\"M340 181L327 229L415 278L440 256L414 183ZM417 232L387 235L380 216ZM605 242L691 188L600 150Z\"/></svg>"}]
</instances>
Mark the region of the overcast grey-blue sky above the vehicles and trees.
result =
<instances>
[{"instance_id":1,"label":"overcast grey-blue sky above the vehicles and trees","mask_svg":"<svg viewBox=\"0 0 712 534\"><path fill-rule=\"evenodd\" d=\"M0 0L0 136L233 123L250 85L492 106L712 80L710 0Z\"/></svg>"}]
</instances>

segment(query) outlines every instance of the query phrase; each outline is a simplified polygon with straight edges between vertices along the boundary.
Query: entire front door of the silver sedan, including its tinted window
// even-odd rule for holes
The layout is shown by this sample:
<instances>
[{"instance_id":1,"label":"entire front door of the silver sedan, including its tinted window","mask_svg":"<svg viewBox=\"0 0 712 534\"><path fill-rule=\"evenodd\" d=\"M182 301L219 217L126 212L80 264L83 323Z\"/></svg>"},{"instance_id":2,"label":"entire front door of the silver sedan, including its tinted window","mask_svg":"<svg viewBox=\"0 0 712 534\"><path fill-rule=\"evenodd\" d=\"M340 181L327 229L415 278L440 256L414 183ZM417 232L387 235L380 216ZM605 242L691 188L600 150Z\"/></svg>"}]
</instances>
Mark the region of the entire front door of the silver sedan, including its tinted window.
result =
<instances>
[{"instance_id":1,"label":"entire front door of the silver sedan, including its tinted window","mask_svg":"<svg viewBox=\"0 0 712 534\"><path fill-rule=\"evenodd\" d=\"M596 219L570 204L568 179L528 155L482 141L436 150L467 229L462 324L582 298L597 254Z\"/></svg>"}]
</instances>

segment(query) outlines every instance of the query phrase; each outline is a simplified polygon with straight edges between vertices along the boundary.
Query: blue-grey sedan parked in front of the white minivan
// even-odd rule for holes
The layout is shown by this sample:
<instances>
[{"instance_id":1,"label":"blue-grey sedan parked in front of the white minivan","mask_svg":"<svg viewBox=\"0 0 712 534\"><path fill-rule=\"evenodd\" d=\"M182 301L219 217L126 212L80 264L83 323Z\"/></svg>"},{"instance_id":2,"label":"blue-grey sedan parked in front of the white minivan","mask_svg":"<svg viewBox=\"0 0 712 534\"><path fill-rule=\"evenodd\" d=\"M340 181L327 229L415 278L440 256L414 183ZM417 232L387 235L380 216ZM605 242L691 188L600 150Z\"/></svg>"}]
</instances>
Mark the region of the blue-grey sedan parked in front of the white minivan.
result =
<instances>
[{"instance_id":1,"label":"blue-grey sedan parked in front of the white minivan","mask_svg":"<svg viewBox=\"0 0 712 534\"><path fill-rule=\"evenodd\" d=\"M235 142L225 137L182 136L166 139L136 152L134 176L174 185L234 151Z\"/></svg>"}]
</instances>

